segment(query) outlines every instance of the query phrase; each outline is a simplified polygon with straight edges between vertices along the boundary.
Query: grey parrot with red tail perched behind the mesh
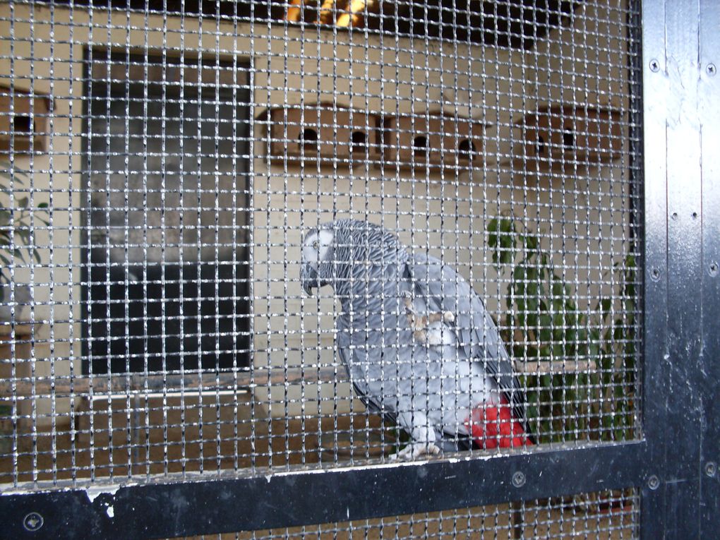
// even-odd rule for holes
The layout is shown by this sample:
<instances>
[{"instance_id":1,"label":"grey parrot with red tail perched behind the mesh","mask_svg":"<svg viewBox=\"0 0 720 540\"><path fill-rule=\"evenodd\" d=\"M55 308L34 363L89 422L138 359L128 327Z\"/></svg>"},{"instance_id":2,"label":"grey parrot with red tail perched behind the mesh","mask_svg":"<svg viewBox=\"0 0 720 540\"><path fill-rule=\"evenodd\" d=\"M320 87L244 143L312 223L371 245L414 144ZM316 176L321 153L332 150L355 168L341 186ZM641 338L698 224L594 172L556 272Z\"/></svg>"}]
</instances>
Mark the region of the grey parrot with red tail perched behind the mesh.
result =
<instances>
[{"instance_id":1,"label":"grey parrot with red tail perched behind the mesh","mask_svg":"<svg viewBox=\"0 0 720 540\"><path fill-rule=\"evenodd\" d=\"M531 444L498 329L450 266L336 220L305 235L300 274L307 294L330 285L341 302L336 350L361 400L410 434L394 457Z\"/></svg>"}]
</instances>

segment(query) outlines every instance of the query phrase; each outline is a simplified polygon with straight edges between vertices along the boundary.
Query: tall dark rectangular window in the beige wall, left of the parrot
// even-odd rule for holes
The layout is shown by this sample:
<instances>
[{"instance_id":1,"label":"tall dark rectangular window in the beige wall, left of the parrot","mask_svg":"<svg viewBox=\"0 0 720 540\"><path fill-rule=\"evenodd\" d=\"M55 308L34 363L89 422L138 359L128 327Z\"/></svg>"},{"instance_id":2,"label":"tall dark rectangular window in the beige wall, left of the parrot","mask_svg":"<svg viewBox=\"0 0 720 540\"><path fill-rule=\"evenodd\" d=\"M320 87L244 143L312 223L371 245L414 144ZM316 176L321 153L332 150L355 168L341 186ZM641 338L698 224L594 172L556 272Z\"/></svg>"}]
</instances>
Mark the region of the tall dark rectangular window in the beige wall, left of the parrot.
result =
<instances>
[{"instance_id":1,"label":"tall dark rectangular window in the beige wall, left of the parrot","mask_svg":"<svg viewBox=\"0 0 720 540\"><path fill-rule=\"evenodd\" d=\"M247 366L247 64L86 58L85 372Z\"/></svg>"}]
</instances>

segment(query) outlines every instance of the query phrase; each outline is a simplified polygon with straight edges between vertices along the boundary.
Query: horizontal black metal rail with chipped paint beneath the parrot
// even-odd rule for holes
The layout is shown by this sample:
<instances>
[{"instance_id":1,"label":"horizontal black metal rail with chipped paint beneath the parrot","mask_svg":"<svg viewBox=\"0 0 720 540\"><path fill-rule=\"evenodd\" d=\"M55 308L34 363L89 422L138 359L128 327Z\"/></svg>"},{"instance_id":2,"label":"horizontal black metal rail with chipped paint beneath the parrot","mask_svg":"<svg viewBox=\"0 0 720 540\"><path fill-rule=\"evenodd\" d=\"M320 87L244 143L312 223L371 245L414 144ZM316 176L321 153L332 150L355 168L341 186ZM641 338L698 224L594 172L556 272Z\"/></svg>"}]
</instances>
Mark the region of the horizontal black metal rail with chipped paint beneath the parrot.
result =
<instances>
[{"instance_id":1,"label":"horizontal black metal rail with chipped paint beneath the parrot","mask_svg":"<svg viewBox=\"0 0 720 540\"><path fill-rule=\"evenodd\" d=\"M37 538L22 526L43 516L42 537L164 538L466 508L514 500L641 485L649 474L647 442L559 448L488 459L269 477L166 480L1 497L9 538ZM524 484L516 487L520 472ZM462 482L457 482L462 478ZM112 507L113 517L108 516Z\"/></svg>"}]
</instances>

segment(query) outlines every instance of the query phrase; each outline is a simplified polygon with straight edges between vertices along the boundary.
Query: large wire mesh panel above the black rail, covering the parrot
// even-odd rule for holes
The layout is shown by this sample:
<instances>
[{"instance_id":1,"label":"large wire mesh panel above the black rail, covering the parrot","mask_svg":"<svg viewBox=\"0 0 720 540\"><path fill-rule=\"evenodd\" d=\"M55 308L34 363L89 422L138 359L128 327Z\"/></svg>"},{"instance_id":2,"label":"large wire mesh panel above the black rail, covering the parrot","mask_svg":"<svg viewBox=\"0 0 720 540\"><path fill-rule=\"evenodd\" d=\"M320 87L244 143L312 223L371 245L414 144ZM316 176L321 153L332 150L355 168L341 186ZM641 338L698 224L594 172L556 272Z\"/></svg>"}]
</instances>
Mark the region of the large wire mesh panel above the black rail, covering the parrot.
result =
<instances>
[{"instance_id":1,"label":"large wire mesh panel above the black rail, covering the parrot","mask_svg":"<svg viewBox=\"0 0 720 540\"><path fill-rule=\"evenodd\" d=\"M638 438L638 21L1 4L0 482Z\"/></svg>"}]
</instances>

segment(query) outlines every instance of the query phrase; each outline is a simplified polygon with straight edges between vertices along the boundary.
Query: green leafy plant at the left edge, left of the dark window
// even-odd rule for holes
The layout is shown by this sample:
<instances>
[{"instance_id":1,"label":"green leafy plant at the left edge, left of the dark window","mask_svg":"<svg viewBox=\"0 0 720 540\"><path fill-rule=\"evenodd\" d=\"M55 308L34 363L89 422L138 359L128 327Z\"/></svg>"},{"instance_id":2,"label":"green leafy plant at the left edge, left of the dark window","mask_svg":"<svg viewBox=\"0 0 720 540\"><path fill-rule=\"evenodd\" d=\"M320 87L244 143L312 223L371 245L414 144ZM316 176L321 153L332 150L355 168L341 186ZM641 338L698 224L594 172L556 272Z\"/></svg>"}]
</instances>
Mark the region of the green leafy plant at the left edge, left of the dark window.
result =
<instances>
[{"instance_id":1,"label":"green leafy plant at the left edge, left of the dark window","mask_svg":"<svg viewBox=\"0 0 720 540\"><path fill-rule=\"evenodd\" d=\"M35 220L50 225L48 203L31 207L27 174L17 168L11 171L10 163L0 161L0 283L4 284L11 281L10 268L15 264L30 264L32 259L40 264L33 227Z\"/></svg>"}]
</instances>

